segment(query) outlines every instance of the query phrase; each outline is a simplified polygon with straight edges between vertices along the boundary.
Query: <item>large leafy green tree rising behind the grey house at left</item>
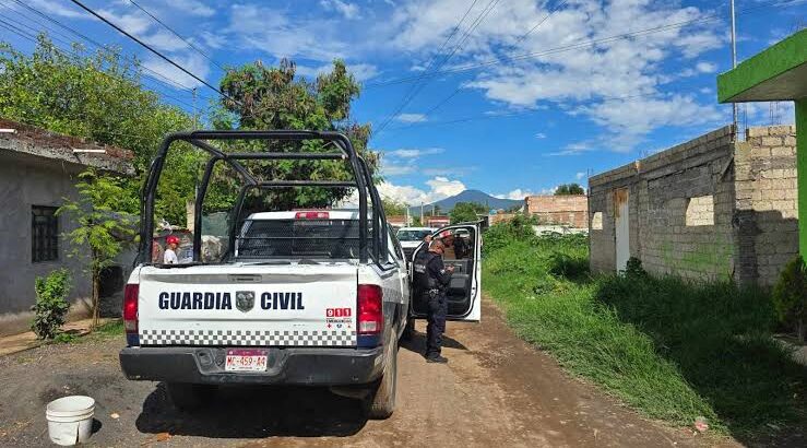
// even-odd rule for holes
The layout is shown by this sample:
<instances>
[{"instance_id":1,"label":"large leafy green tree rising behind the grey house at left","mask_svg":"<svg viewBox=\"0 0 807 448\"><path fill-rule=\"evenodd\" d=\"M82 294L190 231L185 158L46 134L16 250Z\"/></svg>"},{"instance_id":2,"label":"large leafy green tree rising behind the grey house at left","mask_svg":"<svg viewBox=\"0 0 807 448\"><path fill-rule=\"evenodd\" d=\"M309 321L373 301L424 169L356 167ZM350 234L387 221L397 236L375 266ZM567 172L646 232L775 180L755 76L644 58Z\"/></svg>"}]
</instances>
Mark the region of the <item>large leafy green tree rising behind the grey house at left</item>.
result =
<instances>
[{"instance_id":1,"label":"large leafy green tree rising behind the grey house at left","mask_svg":"<svg viewBox=\"0 0 807 448\"><path fill-rule=\"evenodd\" d=\"M74 44L72 52L57 48L40 35L32 55L0 43L0 116L134 153L135 177L119 179L126 210L138 212L140 187L166 133L191 129L191 117L161 102L143 87L142 69L117 50L85 52ZM168 157L161 179L156 209L161 217L185 220L185 199L193 198L202 154L190 148Z\"/></svg>"}]
</instances>

